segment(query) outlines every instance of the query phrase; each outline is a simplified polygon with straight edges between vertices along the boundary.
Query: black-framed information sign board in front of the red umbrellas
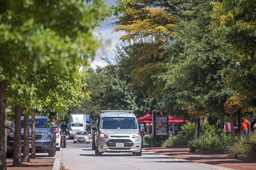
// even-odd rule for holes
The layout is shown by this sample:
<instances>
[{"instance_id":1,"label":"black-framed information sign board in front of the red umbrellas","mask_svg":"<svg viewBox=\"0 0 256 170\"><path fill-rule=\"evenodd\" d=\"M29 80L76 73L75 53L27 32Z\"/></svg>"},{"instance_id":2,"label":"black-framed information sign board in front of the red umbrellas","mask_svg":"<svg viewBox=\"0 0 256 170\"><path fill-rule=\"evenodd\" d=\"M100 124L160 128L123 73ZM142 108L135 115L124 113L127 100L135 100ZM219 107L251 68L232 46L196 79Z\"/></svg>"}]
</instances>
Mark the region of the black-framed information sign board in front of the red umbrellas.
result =
<instances>
[{"instance_id":1,"label":"black-framed information sign board in front of the red umbrellas","mask_svg":"<svg viewBox=\"0 0 256 170\"><path fill-rule=\"evenodd\" d=\"M169 122L166 111L157 110L153 115L153 145L160 146L169 137Z\"/></svg>"}]
</instances>

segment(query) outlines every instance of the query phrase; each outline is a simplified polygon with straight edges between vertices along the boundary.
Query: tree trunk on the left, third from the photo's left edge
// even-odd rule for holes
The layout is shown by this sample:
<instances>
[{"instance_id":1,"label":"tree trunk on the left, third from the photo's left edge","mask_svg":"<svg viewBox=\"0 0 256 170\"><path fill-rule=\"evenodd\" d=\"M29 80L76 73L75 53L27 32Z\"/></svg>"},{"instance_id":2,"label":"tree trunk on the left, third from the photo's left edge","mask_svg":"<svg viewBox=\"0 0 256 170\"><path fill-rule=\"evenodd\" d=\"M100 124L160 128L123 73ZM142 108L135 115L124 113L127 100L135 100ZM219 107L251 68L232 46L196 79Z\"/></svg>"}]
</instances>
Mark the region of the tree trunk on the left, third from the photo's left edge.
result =
<instances>
[{"instance_id":1,"label":"tree trunk on the left, third from the photo's left edge","mask_svg":"<svg viewBox=\"0 0 256 170\"><path fill-rule=\"evenodd\" d=\"M27 109L24 109L24 137L22 162L30 162L29 158L29 116Z\"/></svg>"}]
</instances>

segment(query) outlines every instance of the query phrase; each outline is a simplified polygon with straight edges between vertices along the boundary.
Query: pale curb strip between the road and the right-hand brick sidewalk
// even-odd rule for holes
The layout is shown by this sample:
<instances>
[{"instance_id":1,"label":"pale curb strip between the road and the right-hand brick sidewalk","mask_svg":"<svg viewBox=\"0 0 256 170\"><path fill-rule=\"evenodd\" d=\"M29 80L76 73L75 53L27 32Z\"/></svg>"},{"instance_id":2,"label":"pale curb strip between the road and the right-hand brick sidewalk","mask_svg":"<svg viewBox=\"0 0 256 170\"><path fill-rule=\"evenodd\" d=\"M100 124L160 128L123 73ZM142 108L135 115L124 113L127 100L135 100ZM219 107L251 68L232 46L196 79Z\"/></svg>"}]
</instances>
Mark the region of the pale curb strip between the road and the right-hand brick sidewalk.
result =
<instances>
[{"instance_id":1,"label":"pale curb strip between the road and the right-hand brick sidewalk","mask_svg":"<svg viewBox=\"0 0 256 170\"><path fill-rule=\"evenodd\" d=\"M195 166L199 166L199 167L216 169L216 170L234 170L234 169L230 169L230 168L219 167L219 166L216 166L216 165L210 165L210 164L204 164L204 163L201 163L201 162L194 162L194 161L190 161L190 160L186 160L186 159L174 158L172 156L158 154L158 153L155 153L155 152L149 152L149 151L146 151L146 150L143 150L143 149L142 149L142 151L146 152L146 153L149 153L149 154L152 154L152 155L159 156L159 157L172 159L172 160L177 161L177 162L182 162L184 164L191 164L191 165L195 165Z\"/></svg>"}]
</instances>

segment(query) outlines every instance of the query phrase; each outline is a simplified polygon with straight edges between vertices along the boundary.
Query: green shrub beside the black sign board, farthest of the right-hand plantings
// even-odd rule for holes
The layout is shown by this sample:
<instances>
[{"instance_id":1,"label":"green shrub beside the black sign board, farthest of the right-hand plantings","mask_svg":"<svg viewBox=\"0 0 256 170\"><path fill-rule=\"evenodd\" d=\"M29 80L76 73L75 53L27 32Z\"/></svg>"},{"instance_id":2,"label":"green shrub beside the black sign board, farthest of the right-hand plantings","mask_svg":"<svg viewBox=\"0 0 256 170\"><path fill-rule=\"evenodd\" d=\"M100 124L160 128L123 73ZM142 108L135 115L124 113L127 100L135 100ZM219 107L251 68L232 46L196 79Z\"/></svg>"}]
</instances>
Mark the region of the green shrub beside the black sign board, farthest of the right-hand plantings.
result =
<instances>
[{"instance_id":1,"label":"green shrub beside the black sign board, farthest of the right-hand plantings","mask_svg":"<svg viewBox=\"0 0 256 170\"><path fill-rule=\"evenodd\" d=\"M193 139L194 136L194 123L186 123L181 127L175 136L170 136L162 143L162 147L167 145L187 145L188 141Z\"/></svg>"}]
</instances>

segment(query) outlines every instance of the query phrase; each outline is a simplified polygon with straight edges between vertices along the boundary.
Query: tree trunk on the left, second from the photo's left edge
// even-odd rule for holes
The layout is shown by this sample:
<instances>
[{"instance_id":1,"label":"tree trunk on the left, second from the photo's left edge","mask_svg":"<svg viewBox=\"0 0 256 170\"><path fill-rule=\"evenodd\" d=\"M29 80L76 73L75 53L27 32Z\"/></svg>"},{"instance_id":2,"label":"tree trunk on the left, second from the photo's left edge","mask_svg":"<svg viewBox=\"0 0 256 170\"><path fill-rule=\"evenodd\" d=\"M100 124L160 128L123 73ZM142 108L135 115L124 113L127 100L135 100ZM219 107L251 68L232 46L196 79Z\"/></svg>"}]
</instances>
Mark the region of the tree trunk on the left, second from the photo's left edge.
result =
<instances>
[{"instance_id":1,"label":"tree trunk on the left, second from the photo's left edge","mask_svg":"<svg viewBox=\"0 0 256 170\"><path fill-rule=\"evenodd\" d=\"M15 131L13 147L13 166L21 166L21 107L19 105L15 105L14 112Z\"/></svg>"}]
</instances>

